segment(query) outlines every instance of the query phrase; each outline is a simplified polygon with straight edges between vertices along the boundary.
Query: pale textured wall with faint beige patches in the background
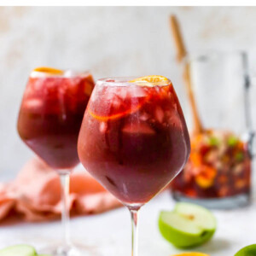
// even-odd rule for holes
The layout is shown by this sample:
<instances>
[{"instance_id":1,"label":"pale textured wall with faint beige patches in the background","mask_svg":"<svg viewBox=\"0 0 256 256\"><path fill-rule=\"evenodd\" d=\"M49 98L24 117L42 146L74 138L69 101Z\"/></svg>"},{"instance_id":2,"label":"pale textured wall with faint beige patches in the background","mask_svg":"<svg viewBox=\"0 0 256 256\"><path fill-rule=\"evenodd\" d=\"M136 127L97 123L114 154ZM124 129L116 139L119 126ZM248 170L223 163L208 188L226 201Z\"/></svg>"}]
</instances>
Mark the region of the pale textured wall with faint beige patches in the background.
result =
<instances>
[{"instance_id":1,"label":"pale textured wall with faint beige patches in the background","mask_svg":"<svg viewBox=\"0 0 256 256\"><path fill-rule=\"evenodd\" d=\"M0 171L18 172L32 156L15 125L27 76L37 66L90 69L96 79L165 75L188 113L169 31L172 13L191 52L249 49L253 59L256 8L1 7Z\"/></svg>"}]
</instances>

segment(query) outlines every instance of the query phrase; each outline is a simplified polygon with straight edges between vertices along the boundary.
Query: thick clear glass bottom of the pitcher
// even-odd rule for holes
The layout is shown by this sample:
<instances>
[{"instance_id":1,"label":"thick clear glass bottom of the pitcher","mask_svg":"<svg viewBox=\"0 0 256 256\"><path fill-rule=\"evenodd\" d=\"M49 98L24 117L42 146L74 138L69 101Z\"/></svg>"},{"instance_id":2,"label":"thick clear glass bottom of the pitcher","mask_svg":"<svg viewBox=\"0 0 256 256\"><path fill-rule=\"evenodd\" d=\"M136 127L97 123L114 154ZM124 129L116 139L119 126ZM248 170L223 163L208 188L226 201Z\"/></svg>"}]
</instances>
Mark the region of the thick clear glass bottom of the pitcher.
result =
<instances>
[{"instance_id":1,"label":"thick clear glass bottom of the pitcher","mask_svg":"<svg viewBox=\"0 0 256 256\"><path fill-rule=\"evenodd\" d=\"M185 201L207 207L209 209L234 209L239 207L247 207L251 202L251 197L248 194L235 195L225 198L210 198L210 199L196 199L189 198L179 192L172 191L172 197L176 201Z\"/></svg>"}]
</instances>

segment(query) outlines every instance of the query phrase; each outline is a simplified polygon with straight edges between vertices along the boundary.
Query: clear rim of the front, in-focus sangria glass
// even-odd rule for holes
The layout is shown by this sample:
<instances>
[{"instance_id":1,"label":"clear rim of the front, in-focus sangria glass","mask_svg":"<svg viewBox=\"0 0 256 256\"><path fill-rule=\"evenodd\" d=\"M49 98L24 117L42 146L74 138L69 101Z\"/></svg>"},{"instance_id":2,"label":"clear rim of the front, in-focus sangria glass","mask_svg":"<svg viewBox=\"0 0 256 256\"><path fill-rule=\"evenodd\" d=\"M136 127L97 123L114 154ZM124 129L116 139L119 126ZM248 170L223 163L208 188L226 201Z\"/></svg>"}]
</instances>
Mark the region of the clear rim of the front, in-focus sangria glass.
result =
<instances>
[{"instance_id":1,"label":"clear rim of the front, in-focus sangria glass","mask_svg":"<svg viewBox=\"0 0 256 256\"><path fill-rule=\"evenodd\" d=\"M96 84L100 86L147 86L147 87L154 87L156 85L158 86L167 86L169 84L172 84L172 81L170 79L167 79L167 81L162 82L152 82L149 83L147 81L138 81L137 83L130 82L133 79L137 79L138 77L131 76L131 77L110 77L105 79L97 79ZM164 83L163 83L164 82ZM151 86L149 85L151 84Z\"/></svg>"}]
</instances>

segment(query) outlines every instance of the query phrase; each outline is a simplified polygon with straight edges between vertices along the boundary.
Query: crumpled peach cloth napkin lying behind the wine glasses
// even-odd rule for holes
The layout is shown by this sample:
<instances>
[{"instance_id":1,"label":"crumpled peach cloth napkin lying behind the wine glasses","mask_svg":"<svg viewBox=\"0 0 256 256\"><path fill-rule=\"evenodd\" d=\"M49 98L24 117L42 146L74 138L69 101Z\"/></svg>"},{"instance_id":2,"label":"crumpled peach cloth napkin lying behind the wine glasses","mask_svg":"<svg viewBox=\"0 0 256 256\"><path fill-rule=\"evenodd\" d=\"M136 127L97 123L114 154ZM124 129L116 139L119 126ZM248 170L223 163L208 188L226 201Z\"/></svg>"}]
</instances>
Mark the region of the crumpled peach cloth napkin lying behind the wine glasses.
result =
<instances>
[{"instance_id":1,"label":"crumpled peach cloth napkin lying behind the wine glasses","mask_svg":"<svg viewBox=\"0 0 256 256\"><path fill-rule=\"evenodd\" d=\"M69 209L73 214L105 212L120 206L87 172L72 173ZM30 160L15 181L0 183L0 221L14 215L27 221L43 221L60 214L60 179L42 160Z\"/></svg>"}]
</instances>

